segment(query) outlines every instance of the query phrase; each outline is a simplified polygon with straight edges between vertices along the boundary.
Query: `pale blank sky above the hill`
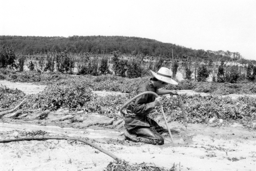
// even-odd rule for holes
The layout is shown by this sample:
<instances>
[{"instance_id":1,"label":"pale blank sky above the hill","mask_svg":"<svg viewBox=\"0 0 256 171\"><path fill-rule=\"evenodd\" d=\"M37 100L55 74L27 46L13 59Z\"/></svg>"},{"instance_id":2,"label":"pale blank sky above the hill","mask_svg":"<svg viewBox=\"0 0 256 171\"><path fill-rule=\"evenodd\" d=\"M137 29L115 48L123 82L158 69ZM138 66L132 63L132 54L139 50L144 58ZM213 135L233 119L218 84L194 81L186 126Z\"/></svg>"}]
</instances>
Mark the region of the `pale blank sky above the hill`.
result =
<instances>
[{"instance_id":1,"label":"pale blank sky above the hill","mask_svg":"<svg viewBox=\"0 0 256 171\"><path fill-rule=\"evenodd\" d=\"M256 1L0 0L0 35L134 36L256 60Z\"/></svg>"}]
</instances>

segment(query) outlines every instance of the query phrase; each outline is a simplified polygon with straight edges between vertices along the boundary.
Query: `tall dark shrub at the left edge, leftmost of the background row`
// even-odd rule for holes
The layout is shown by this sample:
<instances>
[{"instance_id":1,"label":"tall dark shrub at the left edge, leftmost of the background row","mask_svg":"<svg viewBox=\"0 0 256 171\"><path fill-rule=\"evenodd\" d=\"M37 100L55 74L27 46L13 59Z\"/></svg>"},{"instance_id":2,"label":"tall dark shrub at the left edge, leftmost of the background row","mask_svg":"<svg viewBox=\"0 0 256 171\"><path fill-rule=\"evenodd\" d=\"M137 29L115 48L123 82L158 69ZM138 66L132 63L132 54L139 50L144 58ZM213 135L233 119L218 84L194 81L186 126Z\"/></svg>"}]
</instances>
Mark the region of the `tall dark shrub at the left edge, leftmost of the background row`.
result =
<instances>
[{"instance_id":1,"label":"tall dark shrub at the left edge, leftmost of the background row","mask_svg":"<svg viewBox=\"0 0 256 171\"><path fill-rule=\"evenodd\" d=\"M17 68L15 64L16 56L9 46L3 46L0 51L0 68Z\"/></svg>"}]
</instances>

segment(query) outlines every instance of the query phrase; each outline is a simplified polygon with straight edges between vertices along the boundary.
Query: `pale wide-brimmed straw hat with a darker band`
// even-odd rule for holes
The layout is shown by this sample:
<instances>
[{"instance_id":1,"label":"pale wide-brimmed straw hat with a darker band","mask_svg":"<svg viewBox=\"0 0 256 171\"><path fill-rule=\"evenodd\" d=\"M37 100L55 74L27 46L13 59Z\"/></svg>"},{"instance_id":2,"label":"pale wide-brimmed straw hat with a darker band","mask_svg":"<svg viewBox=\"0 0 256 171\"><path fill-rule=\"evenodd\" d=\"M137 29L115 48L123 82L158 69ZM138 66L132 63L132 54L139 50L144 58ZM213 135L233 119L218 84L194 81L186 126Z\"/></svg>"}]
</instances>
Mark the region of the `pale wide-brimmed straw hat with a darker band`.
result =
<instances>
[{"instance_id":1,"label":"pale wide-brimmed straw hat with a darker band","mask_svg":"<svg viewBox=\"0 0 256 171\"><path fill-rule=\"evenodd\" d=\"M178 85L178 83L172 79L172 71L168 68L161 67L157 73L153 71L151 71L151 73L156 79L160 81L168 84Z\"/></svg>"}]
</instances>

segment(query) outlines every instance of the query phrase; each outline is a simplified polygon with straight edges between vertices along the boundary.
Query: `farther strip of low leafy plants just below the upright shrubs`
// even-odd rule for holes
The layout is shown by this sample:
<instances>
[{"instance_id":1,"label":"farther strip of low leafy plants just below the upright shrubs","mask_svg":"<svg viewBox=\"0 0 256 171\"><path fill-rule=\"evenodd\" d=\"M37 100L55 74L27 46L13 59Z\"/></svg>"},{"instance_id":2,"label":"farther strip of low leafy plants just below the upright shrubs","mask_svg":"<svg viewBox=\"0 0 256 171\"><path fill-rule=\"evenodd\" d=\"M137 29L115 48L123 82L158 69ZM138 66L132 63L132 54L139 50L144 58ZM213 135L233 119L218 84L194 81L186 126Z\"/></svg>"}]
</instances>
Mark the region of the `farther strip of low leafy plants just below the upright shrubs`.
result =
<instances>
[{"instance_id":1,"label":"farther strip of low leafy plants just below the upright shrubs","mask_svg":"<svg viewBox=\"0 0 256 171\"><path fill-rule=\"evenodd\" d=\"M69 85L71 81L77 84L83 83L94 91L115 91L121 93L132 93L138 85L147 81L150 77L125 78L115 75L101 75L93 77L73 76L52 72L49 74L40 74L35 71L15 72L7 69L0 69L0 79L6 79L13 82L35 82L39 85ZM54 85L55 86L55 85ZM180 81L179 85L167 85L168 90L194 90L196 92L211 93L215 95L228 94L250 94L256 93L254 82L243 81L236 84L217 83L217 82L197 82L194 80Z\"/></svg>"}]
</instances>

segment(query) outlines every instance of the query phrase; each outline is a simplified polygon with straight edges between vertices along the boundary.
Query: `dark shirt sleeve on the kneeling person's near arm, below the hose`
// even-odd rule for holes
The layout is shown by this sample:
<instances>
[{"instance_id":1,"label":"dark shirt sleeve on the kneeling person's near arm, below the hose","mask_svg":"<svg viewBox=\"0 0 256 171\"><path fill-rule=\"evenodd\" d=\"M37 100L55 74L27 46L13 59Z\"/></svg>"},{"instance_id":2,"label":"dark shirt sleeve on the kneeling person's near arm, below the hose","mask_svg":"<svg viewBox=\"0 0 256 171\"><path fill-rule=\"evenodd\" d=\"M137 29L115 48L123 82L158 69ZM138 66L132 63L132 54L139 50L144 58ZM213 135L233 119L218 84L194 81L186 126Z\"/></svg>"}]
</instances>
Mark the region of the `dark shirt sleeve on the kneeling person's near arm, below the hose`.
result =
<instances>
[{"instance_id":1,"label":"dark shirt sleeve on the kneeling person's near arm, below the hose","mask_svg":"<svg viewBox=\"0 0 256 171\"><path fill-rule=\"evenodd\" d=\"M137 94L143 93L144 91L139 90L137 91ZM137 115L144 115L150 113L153 109L155 109L153 102L148 103L149 96L152 96L152 94L144 94L140 97L138 97L135 100L133 112Z\"/></svg>"}]
</instances>

